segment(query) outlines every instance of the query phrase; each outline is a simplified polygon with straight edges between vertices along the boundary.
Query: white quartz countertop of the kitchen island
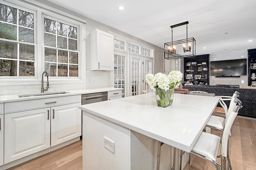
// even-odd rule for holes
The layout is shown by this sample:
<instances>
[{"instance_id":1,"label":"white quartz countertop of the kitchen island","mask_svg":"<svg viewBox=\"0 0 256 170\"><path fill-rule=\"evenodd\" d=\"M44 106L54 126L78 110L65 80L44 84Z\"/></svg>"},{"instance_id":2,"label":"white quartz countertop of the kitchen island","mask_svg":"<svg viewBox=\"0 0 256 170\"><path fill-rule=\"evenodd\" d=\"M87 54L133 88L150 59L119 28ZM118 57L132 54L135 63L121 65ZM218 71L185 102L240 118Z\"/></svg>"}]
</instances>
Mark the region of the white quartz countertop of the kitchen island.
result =
<instances>
[{"instance_id":1,"label":"white quartz countertop of the kitchen island","mask_svg":"<svg viewBox=\"0 0 256 170\"><path fill-rule=\"evenodd\" d=\"M92 115L190 152L202 133L218 97L174 94L172 106L156 104L154 93L82 105Z\"/></svg>"}]
</instances>

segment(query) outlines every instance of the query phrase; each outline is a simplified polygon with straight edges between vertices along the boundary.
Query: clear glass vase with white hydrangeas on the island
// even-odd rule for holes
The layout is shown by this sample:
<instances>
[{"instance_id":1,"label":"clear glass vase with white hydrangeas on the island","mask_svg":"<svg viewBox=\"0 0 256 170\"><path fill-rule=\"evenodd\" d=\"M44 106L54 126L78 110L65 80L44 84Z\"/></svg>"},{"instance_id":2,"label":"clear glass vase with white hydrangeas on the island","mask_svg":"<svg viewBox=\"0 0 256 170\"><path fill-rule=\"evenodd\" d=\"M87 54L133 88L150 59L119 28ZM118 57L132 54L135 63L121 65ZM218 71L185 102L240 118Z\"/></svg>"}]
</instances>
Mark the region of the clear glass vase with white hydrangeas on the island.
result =
<instances>
[{"instance_id":1,"label":"clear glass vase with white hydrangeas on the island","mask_svg":"<svg viewBox=\"0 0 256 170\"><path fill-rule=\"evenodd\" d=\"M147 74L146 81L151 89L155 90L156 103L159 107L172 105L174 88L182 80L183 74L180 71L171 71L168 76L159 72L157 74Z\"/></svg>"}]
</instances>

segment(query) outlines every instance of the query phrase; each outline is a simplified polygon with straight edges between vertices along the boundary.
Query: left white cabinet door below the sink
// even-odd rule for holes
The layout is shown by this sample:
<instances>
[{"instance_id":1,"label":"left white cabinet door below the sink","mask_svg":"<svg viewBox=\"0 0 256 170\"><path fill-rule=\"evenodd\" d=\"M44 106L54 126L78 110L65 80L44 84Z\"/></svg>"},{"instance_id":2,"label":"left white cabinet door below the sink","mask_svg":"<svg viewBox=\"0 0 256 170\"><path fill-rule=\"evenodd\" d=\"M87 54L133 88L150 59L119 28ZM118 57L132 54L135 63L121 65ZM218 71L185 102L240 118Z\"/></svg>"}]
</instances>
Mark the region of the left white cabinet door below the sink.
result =
<instances>
[{"instance_id":1,"label":"left white cabinet door below the sink","mask_svg":"<svg viewBox=\"0 0 256 170\"><path fill-rule=\"evenodd\" d=\"M4 164L50 147L50 108L4 115Z\"/></svg>"}]
</instances>

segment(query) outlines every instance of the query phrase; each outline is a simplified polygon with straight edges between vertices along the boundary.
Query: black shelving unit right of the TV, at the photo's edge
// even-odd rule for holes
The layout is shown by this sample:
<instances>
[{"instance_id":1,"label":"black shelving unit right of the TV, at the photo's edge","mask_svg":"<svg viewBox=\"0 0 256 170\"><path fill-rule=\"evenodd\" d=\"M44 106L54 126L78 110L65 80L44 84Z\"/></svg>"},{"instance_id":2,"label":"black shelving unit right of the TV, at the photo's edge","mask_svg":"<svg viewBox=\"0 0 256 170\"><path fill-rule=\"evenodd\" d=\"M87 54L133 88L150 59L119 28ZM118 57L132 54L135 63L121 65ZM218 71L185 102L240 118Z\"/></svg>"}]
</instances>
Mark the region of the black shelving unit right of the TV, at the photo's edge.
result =
<instances>
[{"instance_id":1,"label":"black shelving unit right of the TV, at the photo's edge","mask_svg":"<svg viewBox=\"0 0 256 170\"><path fill-rule=\"evenodd\" d=\"M256 86L256 80L252 74L256 74L256 49L248 50L248 86Z\"/></svg>"}]
</instances>

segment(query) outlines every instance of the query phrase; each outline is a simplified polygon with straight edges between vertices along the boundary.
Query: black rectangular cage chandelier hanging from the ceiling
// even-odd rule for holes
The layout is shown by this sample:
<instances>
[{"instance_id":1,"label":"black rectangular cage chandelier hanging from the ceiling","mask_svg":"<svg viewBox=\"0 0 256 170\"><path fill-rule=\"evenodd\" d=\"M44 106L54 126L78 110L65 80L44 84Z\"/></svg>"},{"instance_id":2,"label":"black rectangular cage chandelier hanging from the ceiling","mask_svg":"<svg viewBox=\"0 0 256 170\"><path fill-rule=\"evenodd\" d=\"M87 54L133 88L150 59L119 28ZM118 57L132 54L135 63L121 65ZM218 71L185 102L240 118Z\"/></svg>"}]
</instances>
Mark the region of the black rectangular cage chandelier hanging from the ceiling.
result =
<instances>
[{"instance_id":1,"label":"black rectangular cage chandelier hanging from the ceiling","mask_svg":"<svg viewBox=\"0 0 256 170\"><path fill-rule=\"evenodd\" d=\"M172 29L181 25L186 25L187 38L178 41L172 40L172 42L164 43L164 59L196 57L196 40L194 37L188 38L188 21L178 23L170 27ZM178 48L176 46L178 46ZM178 50L177 54L176 50Z\"/></svg>"}]
</instances>

